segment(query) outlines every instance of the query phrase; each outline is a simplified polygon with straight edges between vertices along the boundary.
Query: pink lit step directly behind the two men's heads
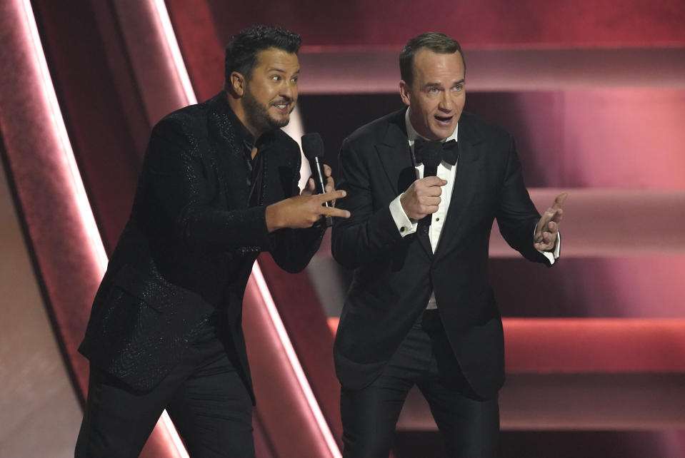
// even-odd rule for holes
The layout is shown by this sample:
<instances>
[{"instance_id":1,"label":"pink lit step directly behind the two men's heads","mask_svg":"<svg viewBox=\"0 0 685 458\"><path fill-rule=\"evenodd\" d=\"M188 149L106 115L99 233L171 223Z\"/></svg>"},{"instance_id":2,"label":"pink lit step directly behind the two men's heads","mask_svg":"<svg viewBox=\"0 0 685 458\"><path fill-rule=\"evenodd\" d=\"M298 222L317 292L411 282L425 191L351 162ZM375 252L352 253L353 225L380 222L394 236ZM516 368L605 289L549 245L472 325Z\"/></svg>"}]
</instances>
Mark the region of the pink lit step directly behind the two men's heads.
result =
<instances>
[{"instance_id":1,"label":"pink lit step directly behind the two men's heads","mask_svg":"<svg viewBox=\"0 0 685 458\"><path fill-rule=\"evenodd\" d=\"M300 52L301 94L396 93L397 54L381 49L306 47ZM682 88L685 47L624 49L466 49L469 91L571 88Z\"/></svg>"}]
</instances>

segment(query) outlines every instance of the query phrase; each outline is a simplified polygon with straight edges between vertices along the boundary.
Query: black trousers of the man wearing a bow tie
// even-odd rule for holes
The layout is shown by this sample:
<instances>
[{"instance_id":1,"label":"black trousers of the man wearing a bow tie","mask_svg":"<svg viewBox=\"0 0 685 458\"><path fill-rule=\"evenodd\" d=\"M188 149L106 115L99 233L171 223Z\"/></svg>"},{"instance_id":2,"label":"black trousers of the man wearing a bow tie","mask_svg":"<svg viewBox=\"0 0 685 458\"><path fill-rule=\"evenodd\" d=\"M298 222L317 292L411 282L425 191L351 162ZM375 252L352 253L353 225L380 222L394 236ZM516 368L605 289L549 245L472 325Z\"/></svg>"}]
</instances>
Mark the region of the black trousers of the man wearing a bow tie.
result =
<instances>
[{"instance_id":1,"label":"black trousers of the man wearing a bow tie","mask_svg":"<svg viewBox=\"0 0 685 458\"><path fill-rule=\"evenodd\" d=\"M344 458L387 458L409 389L428 401L447 456L495 458L497 398L481 399L454 357L437 310L426 310L380 377L361 390L341 390Z\"/></svg>"}]
</instances>

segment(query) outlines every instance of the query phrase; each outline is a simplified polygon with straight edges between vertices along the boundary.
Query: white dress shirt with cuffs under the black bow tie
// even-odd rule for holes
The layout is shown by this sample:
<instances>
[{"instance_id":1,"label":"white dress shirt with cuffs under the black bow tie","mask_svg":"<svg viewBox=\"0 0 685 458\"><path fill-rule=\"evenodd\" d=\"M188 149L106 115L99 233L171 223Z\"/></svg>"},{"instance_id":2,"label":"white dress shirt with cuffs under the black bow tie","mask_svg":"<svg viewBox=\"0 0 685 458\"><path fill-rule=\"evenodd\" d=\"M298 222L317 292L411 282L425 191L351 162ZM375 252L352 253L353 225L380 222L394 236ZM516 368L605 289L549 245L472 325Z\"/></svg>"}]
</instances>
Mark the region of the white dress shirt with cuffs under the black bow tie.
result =
<instances>
[{"instance_id":1,"label":"white dress shirt with cuffs under the black bow tie","mask_svg":"<svg viewBox=\"0 0 685 458\"><path fill-rule=\"evenodd\" d=\"M420 137L418 133L416 133L416 130L414 130L414 127L411 126L411 121L409 121L409 110L406 111L404 115L404 122L406 123L406 134L407 138L409 138L409 148L411 148L411 152L414 153L414 142L416 141L416 137ZM452 132L451 136L447 137L444 141L450 141L454 140L456 141L456 136L457 133L459 132L459 123L456 124L456 127L454 128L454 132ZM414 158L414 155L412 154L412 158ZM432 218L433 220L431 221L430 225L430 230L429 230L429 239L431 240L431 248L433 249L433 253L435 253L435 249L438 246L438 243L440 241L440 235L442 233L442 226L445 223L445 218L447 216L447 210L449 209L449 201L452 197L452 188L454 188L454 177L456 177L456 168L459 166L459 159L457 159L457 163L452 166L449 163L446 163L445 161L442 161L440 165L438 166L438 173L437 176L438 178L442 178L443 180L447 181L447 184L442 187L442 193L440 195L440 203L438 204L438 210L433 213ZM421 178L424 177L424 164L416 164L416 160L414 160L414 168L416 169L416 179L420 180ZM390 203L390 213L392 215L393 220L395 221L395 225L397 226L397 230L399 231L400 235L402 237L406 237L406 235L413 234L416 232L416 229L419 227L419 221L417 220L410 220L409 217L404 213L404 208L402 208L402 203L400 202L400 198L402 197L404 193L398 195L391 203ZM535 228L533 229L535 231ZM533 243L533 235L531 235L531 243ZM546 251L540 251L543 255L546 256L547 259L549 259L549 262L551 264L554 264L554 261L559 258L559 251L561 247L561 235L556 240L556 246L554 247L554 252L549 253ZM435 302L435 295L431 293L431 298L429 300L428 306L426 307L427 309L434 309L437 308L436 302Z\"/></svg>"}]
</instances>

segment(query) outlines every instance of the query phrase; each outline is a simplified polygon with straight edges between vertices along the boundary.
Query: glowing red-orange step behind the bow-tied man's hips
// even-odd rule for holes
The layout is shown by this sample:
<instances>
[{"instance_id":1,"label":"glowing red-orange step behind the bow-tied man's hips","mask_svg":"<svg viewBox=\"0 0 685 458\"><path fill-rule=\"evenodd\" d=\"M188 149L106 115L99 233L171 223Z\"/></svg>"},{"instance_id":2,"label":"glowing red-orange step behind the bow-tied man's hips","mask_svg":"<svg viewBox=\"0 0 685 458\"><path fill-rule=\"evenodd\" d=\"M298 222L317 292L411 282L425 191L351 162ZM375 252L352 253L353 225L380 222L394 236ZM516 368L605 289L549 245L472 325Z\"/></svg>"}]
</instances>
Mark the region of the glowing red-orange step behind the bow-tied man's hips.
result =
<instances>
[{"instance_id":1,"label":"glowing red-orange step behind the bow-tied man's hips","mask_svg":"<svg viewBox=\"0 0 685 458\"><path fill-rule=\"evenodd\" d=\"M504 318L509 374L685 372L685 319ZM331 332L338 318L329 318Z\"/></svg>"}]
</instances>

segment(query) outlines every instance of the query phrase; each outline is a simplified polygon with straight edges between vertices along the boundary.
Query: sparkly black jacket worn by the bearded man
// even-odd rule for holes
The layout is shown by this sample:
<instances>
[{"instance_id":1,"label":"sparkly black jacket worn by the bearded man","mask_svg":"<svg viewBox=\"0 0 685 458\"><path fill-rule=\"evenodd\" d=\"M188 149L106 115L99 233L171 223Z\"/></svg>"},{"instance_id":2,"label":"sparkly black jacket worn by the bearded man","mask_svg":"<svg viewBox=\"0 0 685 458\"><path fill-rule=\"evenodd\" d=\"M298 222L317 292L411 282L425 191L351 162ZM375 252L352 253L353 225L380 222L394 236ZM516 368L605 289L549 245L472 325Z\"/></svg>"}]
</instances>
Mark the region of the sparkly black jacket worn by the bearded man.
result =
<instances>
[{"instance_id":1,"label":"sparkly black jacket worn by the bearded man","mask_svg":"<svg viewBox=\"0 0 685 458\"><path fill-rule=\"evenodd\" d=\"M149 390L215 315L251 392L241 310L254 260L270 251L297 272L323 235L321 228L268 233L266 205L299 193L301 156L282 131L264 134L261 177L253 176L251 140L223 93L154 127L129 222L79 348L91 365ZM250 183L259 183L253 205Z\"/></svg>"}]
</instances>

